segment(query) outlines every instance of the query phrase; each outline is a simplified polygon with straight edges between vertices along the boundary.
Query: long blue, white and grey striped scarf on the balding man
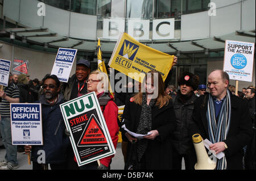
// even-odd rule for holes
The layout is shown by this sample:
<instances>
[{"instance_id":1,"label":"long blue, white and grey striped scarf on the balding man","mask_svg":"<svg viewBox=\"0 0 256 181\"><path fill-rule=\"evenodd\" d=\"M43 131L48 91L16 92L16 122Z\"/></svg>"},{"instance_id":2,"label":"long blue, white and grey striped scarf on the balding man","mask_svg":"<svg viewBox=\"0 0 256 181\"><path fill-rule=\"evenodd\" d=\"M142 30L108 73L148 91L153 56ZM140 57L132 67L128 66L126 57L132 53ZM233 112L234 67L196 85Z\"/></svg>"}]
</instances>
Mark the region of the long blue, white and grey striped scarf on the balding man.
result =
<instances>
[{"instance_id":1,"label":"long blue, white and grey striped scarf on the balding man","mask_svg":"<svg viewBox=\"0 0 256 181\"><path fill-rule=\"evenodd\" d=\"M231 102L229 90L227 90L227 94L223 100L220 113L218 113L217 123L213 101L214 100L212 95L209 94L207 110L208 133L210 142L214 144L216 142L226 140L226 136L228 135L231 117ZM225 157L217 160L216 170L226 170Z\"/></svg>"}]
</instances>

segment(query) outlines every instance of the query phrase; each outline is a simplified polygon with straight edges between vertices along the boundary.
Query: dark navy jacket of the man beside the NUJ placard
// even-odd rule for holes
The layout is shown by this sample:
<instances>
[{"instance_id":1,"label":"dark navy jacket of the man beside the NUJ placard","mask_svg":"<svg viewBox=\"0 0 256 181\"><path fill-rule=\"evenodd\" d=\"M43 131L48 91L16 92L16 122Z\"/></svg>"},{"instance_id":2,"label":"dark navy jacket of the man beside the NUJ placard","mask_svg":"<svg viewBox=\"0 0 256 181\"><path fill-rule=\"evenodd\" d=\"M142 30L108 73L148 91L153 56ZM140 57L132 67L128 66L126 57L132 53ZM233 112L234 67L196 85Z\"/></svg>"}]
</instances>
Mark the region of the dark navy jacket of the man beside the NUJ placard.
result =
<instances>
[{"instance_id":1,"label":"dark navy jacket of the man beside the NUJ placard","mask_svg":"<svg viewBox=\"0 0 256 181\"><path fill-rule=\"evenodd\" d=\"M59 94L59 99L53 106L46 102L44 95L40 96L37 103L42 104L43 145L32 146L31 159L37 162L38 157L42 157L42 153L38 151L44 150L46 163L64 163L69 138L64 133L65 123L60 111L60 104L64 103L63 95Z\"/></svg>"}]
</instances>

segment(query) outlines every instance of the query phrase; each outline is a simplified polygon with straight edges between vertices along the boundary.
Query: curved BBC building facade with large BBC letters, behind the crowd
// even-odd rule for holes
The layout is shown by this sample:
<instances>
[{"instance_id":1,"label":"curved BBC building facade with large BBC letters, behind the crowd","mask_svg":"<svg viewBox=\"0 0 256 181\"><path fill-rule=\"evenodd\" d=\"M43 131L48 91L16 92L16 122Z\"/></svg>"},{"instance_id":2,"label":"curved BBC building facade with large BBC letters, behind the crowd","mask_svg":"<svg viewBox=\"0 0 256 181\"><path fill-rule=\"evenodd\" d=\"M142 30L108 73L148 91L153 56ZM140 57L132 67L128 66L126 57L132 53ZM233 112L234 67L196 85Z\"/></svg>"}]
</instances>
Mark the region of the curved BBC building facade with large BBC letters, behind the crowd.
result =
<instances>
[{"instance_id":1,"label":"curved BBC building facade with large BBC letters, behind the crowd","mask_svg":"<svg viewBox=\"0 0 256 181\"><path fill-rule=\"evenodd\" d=\"M0 0L0 30L0 58L26 60L31 79L51 73L59 47L77 49L76 58L97 69L98 38L108 64L127 32L178 57L171 85L183 71L206 84L211 70L223 69L225 40L255 43L255 0ZM252 81L238 90L249 85L255 61Z\"/></svg>"}]
</instances>

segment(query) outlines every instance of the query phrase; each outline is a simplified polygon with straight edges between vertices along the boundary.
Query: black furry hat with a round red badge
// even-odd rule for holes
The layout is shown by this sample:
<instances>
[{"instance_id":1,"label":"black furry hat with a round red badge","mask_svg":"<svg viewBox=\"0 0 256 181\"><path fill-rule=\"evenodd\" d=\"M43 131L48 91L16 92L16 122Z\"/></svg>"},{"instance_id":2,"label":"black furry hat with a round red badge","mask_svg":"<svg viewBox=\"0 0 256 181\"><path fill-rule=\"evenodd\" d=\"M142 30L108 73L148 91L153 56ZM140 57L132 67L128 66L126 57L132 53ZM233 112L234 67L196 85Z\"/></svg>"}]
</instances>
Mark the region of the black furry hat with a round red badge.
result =
<instances>
[{"instance_id":1,"label":"black furry hat with a round red badge","mask_svg":"<svg viewBox=\"0 0 256 181\"><path fill-rule=\"evenodd\" d=\"M178 79L178 84L179 86L185 84L187 86L191 86L193 90L196 90L199 85L199 77L185 71L180 75Z\"/></svg>"}]
</instances>

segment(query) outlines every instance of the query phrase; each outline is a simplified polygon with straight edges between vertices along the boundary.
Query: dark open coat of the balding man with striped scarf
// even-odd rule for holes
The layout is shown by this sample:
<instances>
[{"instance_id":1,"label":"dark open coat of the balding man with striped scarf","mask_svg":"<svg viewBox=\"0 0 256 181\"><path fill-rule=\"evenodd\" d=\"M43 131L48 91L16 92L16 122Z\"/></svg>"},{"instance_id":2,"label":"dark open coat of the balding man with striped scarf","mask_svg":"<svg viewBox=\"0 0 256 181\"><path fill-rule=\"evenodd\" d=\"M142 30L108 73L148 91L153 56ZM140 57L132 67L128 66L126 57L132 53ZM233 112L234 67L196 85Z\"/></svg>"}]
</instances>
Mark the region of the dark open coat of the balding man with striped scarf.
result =
<instances>
[{"instance_id":1,"label":"dark open coat of the balding man with striped scarf","mask_svg":"<svg viewBox=\"0 0 256 181\"><path fill-rule=\"evenodd\" d=\"M203 139L209 139L207 108L209 95L202 95L195 101L191 122L191 136L199 133ZM227 169L242 169L243 146L249 144L251 136L251 119L247 102L238 96L231 95L231 118L224 150Z\"/></svg>"}]
</instances>

